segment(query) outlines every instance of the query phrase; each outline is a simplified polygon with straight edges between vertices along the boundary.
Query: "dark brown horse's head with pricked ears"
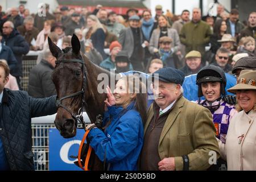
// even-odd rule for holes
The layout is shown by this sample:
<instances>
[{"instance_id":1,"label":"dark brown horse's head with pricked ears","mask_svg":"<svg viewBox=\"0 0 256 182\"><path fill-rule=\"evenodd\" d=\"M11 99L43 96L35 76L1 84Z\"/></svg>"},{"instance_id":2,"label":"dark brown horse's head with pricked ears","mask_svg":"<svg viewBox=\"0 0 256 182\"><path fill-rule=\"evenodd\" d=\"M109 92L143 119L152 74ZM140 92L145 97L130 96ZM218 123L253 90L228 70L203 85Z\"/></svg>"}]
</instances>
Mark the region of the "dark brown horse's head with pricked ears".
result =
<instances>
[{"instance_id":1,"label":"dark brown horse's head with pricked ears","mask_svg":"<svg viewBox=\"0 0 256 182\"><path fill-rule=\"evenodd\" d=\"M72 48L61 51L48 38L49 49L56 57L56 67L52 73L58 97L58 110L55 126L64 138L76 135L77 115L82 111L85 100L86 75L85 66L80 53L80 42L76 35L72 36Z\"/></svg>"}]
</instances>

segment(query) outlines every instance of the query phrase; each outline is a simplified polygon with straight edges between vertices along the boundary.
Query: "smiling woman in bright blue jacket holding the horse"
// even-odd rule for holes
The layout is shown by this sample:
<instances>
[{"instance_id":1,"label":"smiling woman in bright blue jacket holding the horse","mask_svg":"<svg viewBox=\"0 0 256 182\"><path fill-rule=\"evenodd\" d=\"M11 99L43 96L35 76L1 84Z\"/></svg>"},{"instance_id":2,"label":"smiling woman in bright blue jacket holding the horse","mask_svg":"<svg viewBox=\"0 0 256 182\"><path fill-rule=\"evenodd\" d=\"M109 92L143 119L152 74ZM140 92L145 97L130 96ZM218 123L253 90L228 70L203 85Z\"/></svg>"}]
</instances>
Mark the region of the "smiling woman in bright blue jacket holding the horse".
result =
<instances>
[{"instance_id":1,"label":"smiling woman in bright blue jacket holding the horse","mask_svg":"<svg viewBox=\"0 0 256 182\"><path fill-rule=\"evenodd\" d=\"M138 84L139 83L139 84ZM107 88L102 126L86 127L87 139L110 171L137 170L137 160L143 145L143 122L146 121L146 86L136 76L123 76L112 94Z\"/></svg>"}]
</instances>

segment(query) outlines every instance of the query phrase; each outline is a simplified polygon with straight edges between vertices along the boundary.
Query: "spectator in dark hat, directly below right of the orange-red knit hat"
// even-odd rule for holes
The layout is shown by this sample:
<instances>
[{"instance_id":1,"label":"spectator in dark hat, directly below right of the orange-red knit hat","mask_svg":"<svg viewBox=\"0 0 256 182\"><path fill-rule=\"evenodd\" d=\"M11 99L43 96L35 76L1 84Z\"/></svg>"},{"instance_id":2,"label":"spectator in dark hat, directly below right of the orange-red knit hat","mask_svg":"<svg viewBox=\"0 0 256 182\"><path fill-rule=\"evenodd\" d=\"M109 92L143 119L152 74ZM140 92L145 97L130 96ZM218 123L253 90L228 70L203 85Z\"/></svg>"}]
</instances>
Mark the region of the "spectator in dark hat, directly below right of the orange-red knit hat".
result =
<instances>
[{"instance_id":1,"label":"spectator in dark hat, directly below right of the orange-red knit hat","mask_svg":"<svg viewBox=\"0 0 256 182\"><path fill-rule=\"evenodd\" d=\"M132 70L133 66L130 64L127 51L119 51L115 56L115 71L117 73L125 73Z\"/></svg>"}]
</instances>

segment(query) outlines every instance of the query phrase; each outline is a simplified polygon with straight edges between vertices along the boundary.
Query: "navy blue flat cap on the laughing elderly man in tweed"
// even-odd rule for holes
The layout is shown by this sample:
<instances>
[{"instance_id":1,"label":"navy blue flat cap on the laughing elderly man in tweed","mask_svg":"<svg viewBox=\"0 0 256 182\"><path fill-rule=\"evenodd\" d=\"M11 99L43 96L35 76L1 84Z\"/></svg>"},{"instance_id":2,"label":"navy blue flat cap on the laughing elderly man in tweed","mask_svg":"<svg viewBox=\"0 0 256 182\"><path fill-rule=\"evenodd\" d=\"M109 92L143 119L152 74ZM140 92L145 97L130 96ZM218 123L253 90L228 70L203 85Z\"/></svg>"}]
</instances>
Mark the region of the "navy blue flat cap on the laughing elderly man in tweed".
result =
<instances>
[{"instance_id":1,"label":"navy blue flat cap on the laughing elderly man in tweed","mask_svg":"<svg viewBox=\"0 0 256 182\"><path fill-rule=\"evenodd\" d=\"M152 78L152 81L154 81L154 79L158 79L163 82L182 85L184 82L185 75L183 72L175 68L165 67L158 69L158 71L152 73L152 75L148 78Z\"/></svg>"}]
</instances>

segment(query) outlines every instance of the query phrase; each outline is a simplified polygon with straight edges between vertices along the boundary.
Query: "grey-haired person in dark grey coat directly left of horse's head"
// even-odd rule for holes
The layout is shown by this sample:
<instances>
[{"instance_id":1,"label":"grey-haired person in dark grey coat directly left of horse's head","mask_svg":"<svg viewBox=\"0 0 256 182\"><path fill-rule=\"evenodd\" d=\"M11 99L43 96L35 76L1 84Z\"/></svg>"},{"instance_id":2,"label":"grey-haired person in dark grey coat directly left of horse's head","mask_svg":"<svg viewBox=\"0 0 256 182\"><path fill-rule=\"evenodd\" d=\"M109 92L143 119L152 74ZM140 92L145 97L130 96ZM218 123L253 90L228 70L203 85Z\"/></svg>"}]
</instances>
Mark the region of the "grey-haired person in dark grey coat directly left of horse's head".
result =
<instances>
[{"instance_id":1,"label":"grey-haired person in dark grey coat directly left of horse's head","mask_svg":"<svg viewBox=\"0 0 256 182\"><path fill-rule=\"evenodd\" d=\"M28 81L28 94L34 98L44 98L56 94L55 86L52 82L52 72L55 68L56 58L52 56L49 49L44 51L44 59L30 71Z\"/></svg>"}]
</instances>

